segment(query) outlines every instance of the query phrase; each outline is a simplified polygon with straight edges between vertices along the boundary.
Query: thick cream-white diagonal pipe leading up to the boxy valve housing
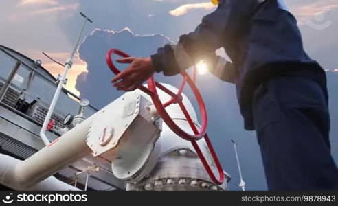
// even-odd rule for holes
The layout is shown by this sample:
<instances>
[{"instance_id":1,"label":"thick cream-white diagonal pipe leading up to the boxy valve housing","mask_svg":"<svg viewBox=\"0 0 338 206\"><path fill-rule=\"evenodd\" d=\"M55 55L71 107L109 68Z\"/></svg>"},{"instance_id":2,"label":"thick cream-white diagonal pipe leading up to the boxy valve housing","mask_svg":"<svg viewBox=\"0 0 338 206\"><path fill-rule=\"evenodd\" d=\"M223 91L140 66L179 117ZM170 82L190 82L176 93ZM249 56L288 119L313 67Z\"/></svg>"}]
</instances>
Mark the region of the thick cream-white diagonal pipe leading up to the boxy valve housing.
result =
<instances>
[{"instance_id":1,"label":"thick cream-white diagonal pipe leading up to the boxy valve housing","mask_svg":"<svg viewBox=\"0 0 338 206\"><path fill-rule=\"evenodd\" d=\"M19 184L25 187L34 185L89 155L91 150L86 144L86 139L92 117L18 164L15 175Z\"/></svg>"}]
</instances>

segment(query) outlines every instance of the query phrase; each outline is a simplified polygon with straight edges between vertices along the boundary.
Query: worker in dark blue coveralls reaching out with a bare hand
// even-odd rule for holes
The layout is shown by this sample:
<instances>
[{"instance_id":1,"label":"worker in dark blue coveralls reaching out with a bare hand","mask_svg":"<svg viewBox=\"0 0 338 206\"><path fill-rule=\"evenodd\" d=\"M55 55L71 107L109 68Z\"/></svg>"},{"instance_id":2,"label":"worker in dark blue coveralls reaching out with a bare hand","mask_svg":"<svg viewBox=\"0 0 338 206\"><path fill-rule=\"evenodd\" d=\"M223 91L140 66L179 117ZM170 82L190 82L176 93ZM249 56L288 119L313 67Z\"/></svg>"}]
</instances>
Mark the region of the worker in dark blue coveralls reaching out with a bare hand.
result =
<instances>
[{"instance_id":1,"label":"worker in dark blue coveralls reaching out with a bare hand","mask_svg":"<svg viewBox=\"0 0 338 206\"><path fill-rule=\"evenodd\" d=\"M215 51L223 47L232 62ZM154 72L173 76L199 60L236 84L245 129L256 130L269 190L338 190L330 154L324 69L304 52L283 0L221 0L194 32L131 63L113 79L132 91Z\"/></svg>"}]
</instances>

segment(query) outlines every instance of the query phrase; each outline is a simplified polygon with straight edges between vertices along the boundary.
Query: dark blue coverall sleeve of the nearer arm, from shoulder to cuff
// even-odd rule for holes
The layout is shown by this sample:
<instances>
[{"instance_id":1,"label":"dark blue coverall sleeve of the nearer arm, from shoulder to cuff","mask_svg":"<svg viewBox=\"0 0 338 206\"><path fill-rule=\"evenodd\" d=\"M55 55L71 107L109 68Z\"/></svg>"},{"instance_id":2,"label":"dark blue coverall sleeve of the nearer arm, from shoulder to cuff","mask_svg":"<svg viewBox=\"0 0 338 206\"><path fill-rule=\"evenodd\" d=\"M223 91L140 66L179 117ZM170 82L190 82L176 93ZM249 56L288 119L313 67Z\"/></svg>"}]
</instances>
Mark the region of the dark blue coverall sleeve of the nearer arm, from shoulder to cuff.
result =
<instances>
[{"instance_id":1,"label":"dark blue coverall sleeve of the nearer arm, from shoulder to cuff","mask_svg":"<svg viewBox=\"0 0 338 206\"><path fill-rule=\"evenodd\" d=\"M183 34L176 45L165 45L151 56L157 72L173 76L227 47L247 28L258 0L223 0L218 8L203 17L194 32Z\"/></svg>"}]
</instances>

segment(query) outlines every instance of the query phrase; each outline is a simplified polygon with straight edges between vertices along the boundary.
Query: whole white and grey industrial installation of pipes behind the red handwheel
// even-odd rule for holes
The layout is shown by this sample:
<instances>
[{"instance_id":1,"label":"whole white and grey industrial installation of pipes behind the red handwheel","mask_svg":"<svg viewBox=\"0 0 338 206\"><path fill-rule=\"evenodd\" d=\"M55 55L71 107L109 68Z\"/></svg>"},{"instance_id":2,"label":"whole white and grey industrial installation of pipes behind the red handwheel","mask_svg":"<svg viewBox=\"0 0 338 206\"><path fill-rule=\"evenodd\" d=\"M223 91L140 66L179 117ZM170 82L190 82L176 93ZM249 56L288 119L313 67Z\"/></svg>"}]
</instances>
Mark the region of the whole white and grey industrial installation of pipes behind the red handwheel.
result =
<instances>
[{"instance_id":1,"label":"whole white and grey industrial installation of pipes behind the red handwheel","mask_svg":"<svg viewBox=\"0 0 338 206\"><path fill-rule=\"evenodd\" d=\"M52 143L46 146L41 126L58 80L41 61L5 46L0 65L3 190L227 190L229 174L214 183L190 141L162 121L153 100L139 89L98 110L62 87L46 128ZM170 95L159 91L159 98L168 102ZM190 101L184 94L182 99L200 128ZM168 105L166 112L192 133L179 105ZM196 142L216 174L207 143Z\"/></svg>"}]
</instances>

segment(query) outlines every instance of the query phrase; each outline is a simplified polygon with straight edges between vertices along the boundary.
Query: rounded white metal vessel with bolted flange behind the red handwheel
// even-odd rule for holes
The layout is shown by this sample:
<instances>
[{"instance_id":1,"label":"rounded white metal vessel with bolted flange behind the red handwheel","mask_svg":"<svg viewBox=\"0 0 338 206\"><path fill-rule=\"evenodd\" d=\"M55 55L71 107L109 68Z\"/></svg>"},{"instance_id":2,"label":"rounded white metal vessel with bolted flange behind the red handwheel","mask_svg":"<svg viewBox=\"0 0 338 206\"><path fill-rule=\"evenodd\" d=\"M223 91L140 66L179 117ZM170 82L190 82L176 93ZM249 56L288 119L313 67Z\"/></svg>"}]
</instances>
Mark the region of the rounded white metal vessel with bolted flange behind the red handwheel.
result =
<instances>
[{"instance_id":1,"label":"rounded white metal vessel with bolted flange behind the red handwheel","mask_svg":"<svg viewBox=\"0 0 338 206\"><path fill-rule=\"evenodd\" d=\"M164 84L164 86L174 93L178 91L177 88L169 84ZM136 92L142 93L142 91ZM161 102L170 100L170 95L161 90L158 92ZM148 95L146 97L150 100ZM199 127L196 112L190 100L184 94L183 104L196 126ZM192 133L190 125L177 104L168 106L166 111L178 126L186 132ZM225 175L226 181L223 185L213 183L205 172L205 168L190 141L186 141L173 133L165 123L162 125L161 137L157 144L161 145L161 152L155 168L142 181L127 183L126 190L227 190L227 181L230 180L229 174ZM207 161L216 173L216 167L204 139L199 140L198 144L202 148L203 154L207 154Z\"/></svg>"}]
</instances>

